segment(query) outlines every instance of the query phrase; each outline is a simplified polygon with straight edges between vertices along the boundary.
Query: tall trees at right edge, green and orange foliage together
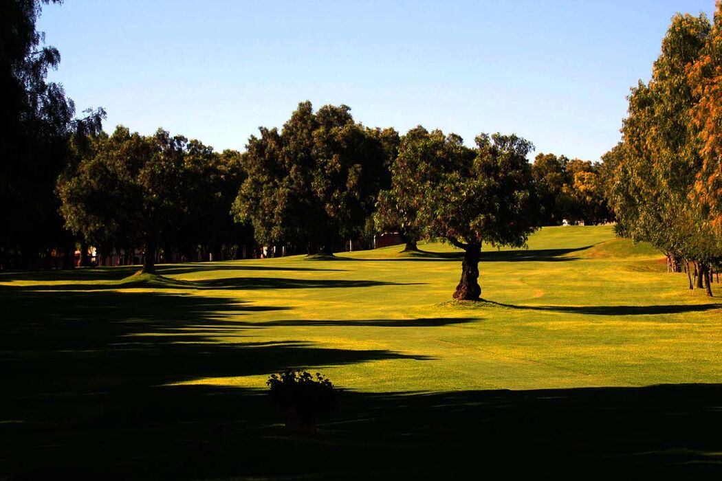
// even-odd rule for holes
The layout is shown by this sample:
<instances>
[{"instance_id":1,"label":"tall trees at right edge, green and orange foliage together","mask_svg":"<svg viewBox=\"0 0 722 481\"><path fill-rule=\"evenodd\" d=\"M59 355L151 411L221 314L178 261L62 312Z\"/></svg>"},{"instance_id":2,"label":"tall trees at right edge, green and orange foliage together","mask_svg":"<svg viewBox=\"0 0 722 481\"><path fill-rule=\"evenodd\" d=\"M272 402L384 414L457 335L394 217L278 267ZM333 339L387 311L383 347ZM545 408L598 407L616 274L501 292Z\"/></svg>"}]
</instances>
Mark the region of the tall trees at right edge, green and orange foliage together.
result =
<instances>
[{"instance_id":1,"label":"tall trees at right edge, green and orange foliage together","mask_svg":"<svg viewBox=\"0 0 722 481\"><path fill-rule=\"evenodd\" d=\"M648 83L629 96L622 142L604 155L606 197L619 232L667 253L690 288L710 288L722 260L719 106L722 4L714 25L677 14Z\"/></svg>"}]
</instances>

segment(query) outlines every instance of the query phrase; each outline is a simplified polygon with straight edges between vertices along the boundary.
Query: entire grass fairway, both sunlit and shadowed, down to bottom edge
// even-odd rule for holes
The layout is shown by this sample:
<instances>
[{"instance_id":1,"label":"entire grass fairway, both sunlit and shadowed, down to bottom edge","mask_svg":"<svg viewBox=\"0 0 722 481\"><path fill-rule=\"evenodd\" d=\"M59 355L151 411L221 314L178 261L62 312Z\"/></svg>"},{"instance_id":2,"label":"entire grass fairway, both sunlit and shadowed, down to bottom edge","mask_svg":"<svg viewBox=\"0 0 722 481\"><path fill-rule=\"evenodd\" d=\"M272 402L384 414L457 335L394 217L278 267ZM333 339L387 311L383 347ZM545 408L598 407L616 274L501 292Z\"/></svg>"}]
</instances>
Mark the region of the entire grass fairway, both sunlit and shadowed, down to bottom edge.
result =
<instances>
[{"instance_id":1,"label":"entire grass fairway, both sunlit and shadowed, down to bottom edge","mask_svg":"<svg viewBox=\"0 0 722 481\"><path fill-rule=\"evenodd\" d=\"M718 467L722 304L658 252L545 228L484 252L474 304L451 301L460 253L420 248L0 273L0 475ZM347 389L316 436L258 392L286 367Z\"/></svg>"}]
</instances>

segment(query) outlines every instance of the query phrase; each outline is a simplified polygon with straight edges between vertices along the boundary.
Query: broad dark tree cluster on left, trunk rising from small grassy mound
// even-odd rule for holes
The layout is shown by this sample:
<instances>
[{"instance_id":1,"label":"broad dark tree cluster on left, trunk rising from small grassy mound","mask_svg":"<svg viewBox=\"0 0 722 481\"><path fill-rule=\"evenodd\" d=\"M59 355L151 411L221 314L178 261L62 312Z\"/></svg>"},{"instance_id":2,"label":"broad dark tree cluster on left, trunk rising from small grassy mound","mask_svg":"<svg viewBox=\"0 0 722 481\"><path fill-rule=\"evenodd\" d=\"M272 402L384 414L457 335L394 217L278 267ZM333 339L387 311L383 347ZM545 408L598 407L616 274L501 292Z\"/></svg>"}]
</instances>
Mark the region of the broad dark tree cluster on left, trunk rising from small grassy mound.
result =
<instances>
[{"instance_id":1,"label":"broad dark tree cluster on left, trunk rising from small grassy mound","mask_svg":"<svg viewBox=\"0 0 722 481\"><path fill-rule=\"evenodd\" d=\"M76 165L58 179L66 226L100 250L134 256L144 272L161 258L194 259L201 249L216 259L237 257L240 227L228 215L242 182L240 154L218 154L199 141L153 136L118 126L89 138ZM224 255L225 254L225 255ZM127 263L134 260L125 260Z\"/></svg>"}]
</instances>

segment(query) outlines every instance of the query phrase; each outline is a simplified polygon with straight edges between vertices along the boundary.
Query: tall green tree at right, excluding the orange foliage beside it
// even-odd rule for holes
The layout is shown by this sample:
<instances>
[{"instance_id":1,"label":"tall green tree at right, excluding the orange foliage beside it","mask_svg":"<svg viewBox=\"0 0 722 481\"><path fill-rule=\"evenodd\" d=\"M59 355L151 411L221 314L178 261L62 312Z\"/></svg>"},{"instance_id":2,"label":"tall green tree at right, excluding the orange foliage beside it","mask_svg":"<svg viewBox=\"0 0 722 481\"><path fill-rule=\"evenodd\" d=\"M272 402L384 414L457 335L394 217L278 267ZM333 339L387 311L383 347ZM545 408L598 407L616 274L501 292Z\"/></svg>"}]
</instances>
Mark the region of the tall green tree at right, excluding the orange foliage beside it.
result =
<instances>
[{"instance_id":1,"label":"tall green tree at right, excluding the orange foliage beside it","mask_svg":"<svg viewBox=\"0 0 722 481\"><path fill-rule=\"evenodd\" d=\"M689 74L710 31L704 14L672 19L651 80L632 89L622 143L603 157L604 190L619 231L650 242L675 264L684 258L705 269L722 256L722 242L694 195L703 157L692 123L698 100Z\"/></svg>"}]
</instances>

